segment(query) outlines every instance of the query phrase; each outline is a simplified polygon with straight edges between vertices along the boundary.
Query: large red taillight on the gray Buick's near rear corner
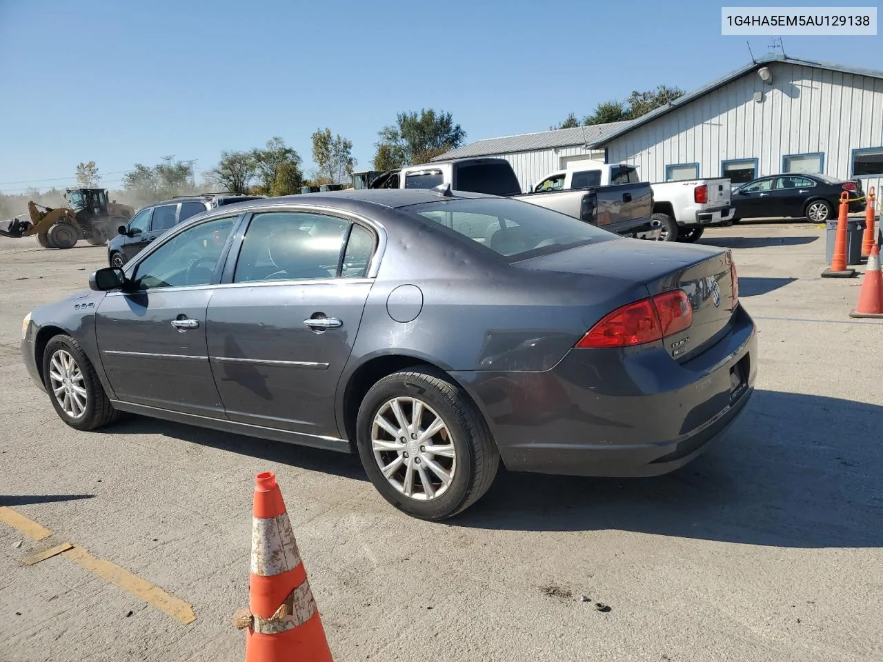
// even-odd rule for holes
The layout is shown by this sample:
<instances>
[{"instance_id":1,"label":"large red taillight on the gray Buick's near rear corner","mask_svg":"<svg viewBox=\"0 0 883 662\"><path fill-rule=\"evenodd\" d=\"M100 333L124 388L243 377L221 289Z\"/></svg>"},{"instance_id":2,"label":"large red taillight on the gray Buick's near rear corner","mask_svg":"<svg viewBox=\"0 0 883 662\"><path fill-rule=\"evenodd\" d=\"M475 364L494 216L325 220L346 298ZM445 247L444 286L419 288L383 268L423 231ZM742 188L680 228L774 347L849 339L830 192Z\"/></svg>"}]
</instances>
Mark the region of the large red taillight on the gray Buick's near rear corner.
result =
<instances>
[{"instance_id":1,"label":"large red taillight on the gray Buick's near rear corner","mask_svg":"<svg viewBox=\"0 0 883 662\"><path fill-rule=\"evenodd\" d=\"M579 348L630 347L689 328L693 307L683 290L662 292L617 308L577 342Z\"/></svg>"}]
</instances>

